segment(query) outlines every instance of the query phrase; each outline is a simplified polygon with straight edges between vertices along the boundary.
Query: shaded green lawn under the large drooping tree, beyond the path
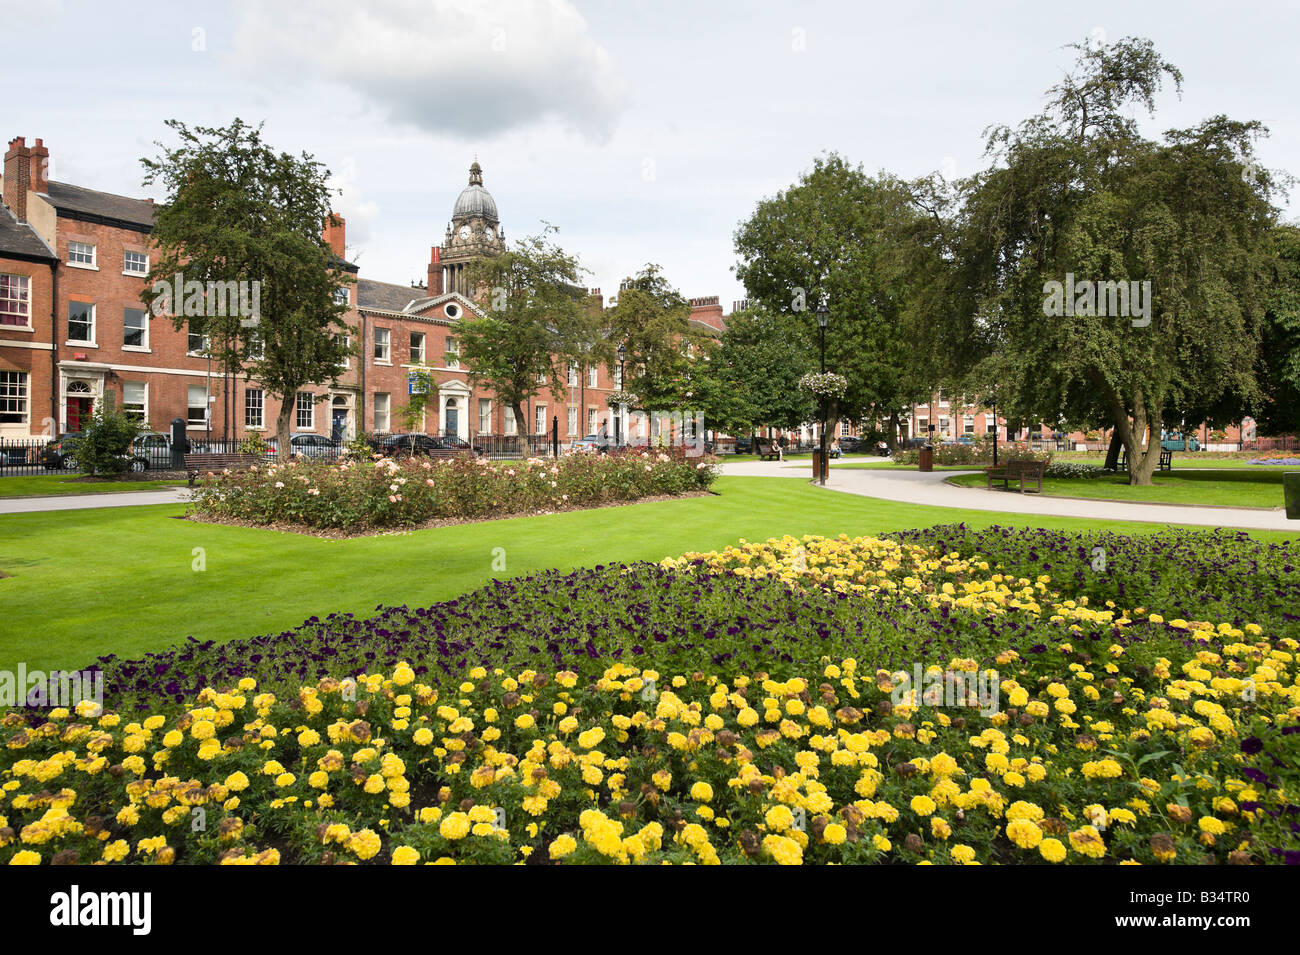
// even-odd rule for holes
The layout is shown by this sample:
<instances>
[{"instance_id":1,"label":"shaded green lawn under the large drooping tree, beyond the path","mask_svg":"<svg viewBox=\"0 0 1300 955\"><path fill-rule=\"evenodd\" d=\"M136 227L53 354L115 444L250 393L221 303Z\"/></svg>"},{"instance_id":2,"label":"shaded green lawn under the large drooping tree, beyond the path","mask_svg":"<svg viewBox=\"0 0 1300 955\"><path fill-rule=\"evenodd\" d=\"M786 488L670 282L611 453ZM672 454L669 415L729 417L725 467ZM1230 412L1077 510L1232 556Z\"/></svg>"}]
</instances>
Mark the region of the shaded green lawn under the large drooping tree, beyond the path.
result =
<instances>
[{"instance_id":1,"label":"shaded green lawn under the large drooping tree, beyond the path","mask_svg":"<svg viewBox=\"0 0 1300 955\"><path fill-rule=\"evenodd\" d=\"M1043 494L1054 498L1157 502L1165 504L1221 504L1226 507L1282 507L1282 474L1286 469L1174 470L1152 477L1149 487L1135 487L1126 476L1101 478L1044 478ZM987 487L984 474L958 474L949 483Z\"/></svg>"}]
</instances>

